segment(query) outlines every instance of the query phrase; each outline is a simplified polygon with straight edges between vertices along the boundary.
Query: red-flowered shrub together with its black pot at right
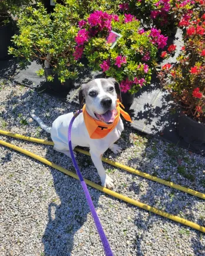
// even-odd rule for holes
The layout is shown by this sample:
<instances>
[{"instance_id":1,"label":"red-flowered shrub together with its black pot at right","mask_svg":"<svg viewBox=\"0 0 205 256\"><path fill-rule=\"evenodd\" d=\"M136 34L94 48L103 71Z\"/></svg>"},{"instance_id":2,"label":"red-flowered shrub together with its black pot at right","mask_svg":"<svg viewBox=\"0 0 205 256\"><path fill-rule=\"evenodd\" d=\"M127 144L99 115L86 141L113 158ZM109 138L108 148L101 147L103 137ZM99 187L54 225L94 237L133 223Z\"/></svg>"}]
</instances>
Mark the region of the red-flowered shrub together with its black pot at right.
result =
<instances>
[{"instance_id":1,"label":"red-flowered shrub together with its black pot at right","mask_svg":"<svg viewBox=\"0 0 205 256\"><path fill-rule=\"evenodd\" d=\"M181 14L184 46L177 63L163 65L159 77L182 109L178 133L199 147L205 143L205 5L197 1L192 7Z\"/></svg>"}]
</instances>

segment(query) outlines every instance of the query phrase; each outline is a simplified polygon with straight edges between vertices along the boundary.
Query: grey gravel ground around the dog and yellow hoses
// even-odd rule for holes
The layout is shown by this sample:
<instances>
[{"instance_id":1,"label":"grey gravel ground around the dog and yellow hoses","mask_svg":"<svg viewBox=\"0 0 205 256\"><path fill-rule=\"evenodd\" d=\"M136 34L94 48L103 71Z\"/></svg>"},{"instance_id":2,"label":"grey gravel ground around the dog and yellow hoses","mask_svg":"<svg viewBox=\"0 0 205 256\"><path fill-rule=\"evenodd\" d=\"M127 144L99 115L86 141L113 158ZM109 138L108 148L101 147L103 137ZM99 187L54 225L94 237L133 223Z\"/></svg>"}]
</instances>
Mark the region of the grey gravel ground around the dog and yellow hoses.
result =
<instances>
[{"instance_id":1,"label":"grey gravel ground around the dog and yellow hoses","mask_svg":"<svg viewBox=\"0 0 205 256\"><path fill-rule=\"evenodd\" d=\"M51 125L72 111L67 103L29 88L0 83L0 129L51 140L29 112ZM74 171L71 160L52 146L0 136ZM120 155L105 156L135 169L205 192L205 158L126 129ZM90 157L78 154L85 178L100 183ZM205 226L202 199L104 164L114 191ZM0 146L0 255L104 255L78 180ZM205 236L89 188L114 255L205 255Z\"/></svg>"}]
</instances>

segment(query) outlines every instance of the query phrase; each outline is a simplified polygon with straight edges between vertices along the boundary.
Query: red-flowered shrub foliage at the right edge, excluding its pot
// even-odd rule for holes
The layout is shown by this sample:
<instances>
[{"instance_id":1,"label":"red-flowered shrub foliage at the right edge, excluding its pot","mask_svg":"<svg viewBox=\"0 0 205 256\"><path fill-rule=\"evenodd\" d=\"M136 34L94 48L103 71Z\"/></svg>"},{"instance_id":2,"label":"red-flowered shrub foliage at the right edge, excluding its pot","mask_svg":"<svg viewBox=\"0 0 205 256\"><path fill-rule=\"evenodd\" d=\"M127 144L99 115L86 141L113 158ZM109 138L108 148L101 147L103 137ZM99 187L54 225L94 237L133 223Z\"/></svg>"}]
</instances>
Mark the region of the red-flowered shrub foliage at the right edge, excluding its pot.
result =
<instances>
[{"instance_id":1,"label":"red-flowered shrub foliage at the right edge, excluding its pot","mask_svg":"<svg viewBox=\"0 0 205 256\"><path fill-rule=\"evenodd\" d=\"M205 1L178 2L179 27L183 29L184 46L177 63L166 64L159 76L164 86L181 103L184 113L204 122L205 117ZM170 45L166 58L176 47Z\"/></svg>"}]
</instances>

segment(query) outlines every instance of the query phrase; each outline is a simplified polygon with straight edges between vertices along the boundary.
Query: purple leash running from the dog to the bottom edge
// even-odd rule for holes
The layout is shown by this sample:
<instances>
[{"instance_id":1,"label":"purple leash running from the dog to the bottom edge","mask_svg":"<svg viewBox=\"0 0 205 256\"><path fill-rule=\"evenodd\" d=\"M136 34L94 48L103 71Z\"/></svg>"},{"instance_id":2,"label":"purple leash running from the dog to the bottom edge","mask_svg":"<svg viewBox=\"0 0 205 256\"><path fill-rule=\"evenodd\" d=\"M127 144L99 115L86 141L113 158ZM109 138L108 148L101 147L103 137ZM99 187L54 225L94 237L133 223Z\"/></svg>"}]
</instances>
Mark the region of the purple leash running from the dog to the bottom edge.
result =
<instances>
[{"instance_id":1,"label":"purple leash running from the dog to the bottom edge","mask_svg":"<svg viewBox=\"0 0 205 256\"><path fill-rule=\"evenodd\" d=\"M82 112L82 110L77 111L78 114L80 114L81 112ZM80 179L82 189L84 190L85 198L87 199L88 205L90 207L92 218L94 219L95 226L97 227L98 234L100 235L100 239L103 243L105 255L106 256L113 256L113 252L111 251L110 244L109 244L108 239L105 235L103 227L100 223L100 219L98 218L97 212L95 211L95 207L92 203L92 199L91 199L90 193L88 191L87 185L86 185L86 183L85 183L85 181L82 177L81 171L78 168L78 164L77 164L77 162L75 160L75 157L74 157L74 153L73 153L73 150L72 150L72 144L71 144L71 128L72 128L72 124L73 124L74 120L75 120L75 116L72 117L71 122L70 122L69 127L68 127L68 146L69 146L70 153L71 153L72 163L75 167L78 178Z\"/></svg>"}]
</instances>

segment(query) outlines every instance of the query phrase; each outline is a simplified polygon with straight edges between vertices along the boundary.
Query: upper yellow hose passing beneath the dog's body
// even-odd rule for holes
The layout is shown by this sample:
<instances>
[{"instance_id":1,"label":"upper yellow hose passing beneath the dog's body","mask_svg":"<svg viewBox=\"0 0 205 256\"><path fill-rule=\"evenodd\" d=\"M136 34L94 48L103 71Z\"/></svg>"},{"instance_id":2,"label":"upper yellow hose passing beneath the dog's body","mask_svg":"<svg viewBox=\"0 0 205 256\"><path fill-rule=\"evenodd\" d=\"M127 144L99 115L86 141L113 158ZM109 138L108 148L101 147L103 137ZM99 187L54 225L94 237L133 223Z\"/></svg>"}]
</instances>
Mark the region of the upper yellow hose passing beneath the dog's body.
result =
<instances>
[{"instance_id":1,"label":"upper yellow hose passing beneath the dog's body","mask_svg":"<svg viewBox=\"0 0 205 256\"><path fill-rule=\"evenodd\" d=\"M0 130L0 134L6 135L6 136L15 137L17 139L28 140L29 142L37 142L37 143L41 143L41 144L45 144L45 145L54 145L53 142L49 142L48 140L41 140L41 139L37 139L37 138L34 138L34 137L24 136L24 135L21 135L21 134L6 132L4 130ZM83 153L84 155L90 156L90 153L87 152L86 150L78 149L77 147L75 147L75 151ZM170 186L171 188L178 189L179 191L183 191L183 192L189 193L189 194L191 194L193 196L197 196L199 198L205 199L205 194L204 193L200 193L200 192L194 191L193 189L185 188L184 186L180 186L180 185L177 185L177 184L175 184L173 182L169 182L167 180L157 178L156 176L150 175L150 174L145 173L145 172L140 172L140 170L135 170L135 169L133 169L131 167L128 167L128 166L125 166L125 165L121 165L121 163L112 161L112 160L107 159L105 157L103 157L102 160L105 163L109 163L110 165L113 165L115 167L121 168L123 170L127 170L127 172L134 173L135 175L139 175L139 176L141 176L143 178L153 180L153 181L161 183L163 185Z\"/></svg>"}]
</instances>

